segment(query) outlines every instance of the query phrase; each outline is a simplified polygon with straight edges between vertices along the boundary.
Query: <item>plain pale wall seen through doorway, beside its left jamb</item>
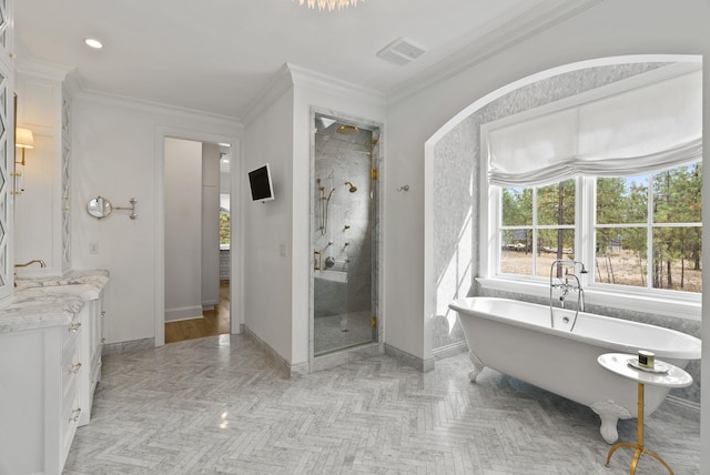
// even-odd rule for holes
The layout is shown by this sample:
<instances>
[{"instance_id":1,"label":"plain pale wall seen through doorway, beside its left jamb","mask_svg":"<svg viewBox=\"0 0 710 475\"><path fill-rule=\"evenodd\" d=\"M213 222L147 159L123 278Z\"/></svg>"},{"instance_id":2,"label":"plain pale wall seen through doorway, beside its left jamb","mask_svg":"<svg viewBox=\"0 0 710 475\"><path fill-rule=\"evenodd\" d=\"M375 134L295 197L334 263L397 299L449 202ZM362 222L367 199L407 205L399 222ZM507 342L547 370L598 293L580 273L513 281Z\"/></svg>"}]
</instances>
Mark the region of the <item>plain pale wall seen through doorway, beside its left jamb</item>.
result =
<instances>
[{"instance_id":1,"label":"plain pale wall seen through doorway, beside its left jamb","mask_svg":"<svg viewBox=\"0 0 710 475\"><path fill-rule=\"evenodd\" d=\"M202 143L165 139L165 321L202 316Z\"/></svg>"}]
</instances>

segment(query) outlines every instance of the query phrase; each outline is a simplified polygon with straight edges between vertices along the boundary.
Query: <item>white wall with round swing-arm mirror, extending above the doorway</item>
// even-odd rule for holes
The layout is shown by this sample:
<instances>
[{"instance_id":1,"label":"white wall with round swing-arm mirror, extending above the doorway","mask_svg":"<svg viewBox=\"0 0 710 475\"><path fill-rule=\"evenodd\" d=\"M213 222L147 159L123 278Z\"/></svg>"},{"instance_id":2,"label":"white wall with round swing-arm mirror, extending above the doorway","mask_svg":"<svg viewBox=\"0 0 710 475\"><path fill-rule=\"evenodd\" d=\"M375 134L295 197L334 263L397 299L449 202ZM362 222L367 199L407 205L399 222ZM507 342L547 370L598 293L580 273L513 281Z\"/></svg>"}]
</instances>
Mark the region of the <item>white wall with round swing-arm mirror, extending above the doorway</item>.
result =
<instances>
[{"instance_id":1,"label":"white wall with round swing-arm mirror, extending above the doorway","mask_svg":"<svg viewBox=\"0 0 710 475\"><path fill-rule=\"evenodd\" d=\"M158 210L162 159L156 154L162 145L156 138L168 130L190 140L237 143L240 124L87 92L78 94L73 112L73 267L111 271L106 343L156 337L156 299L162 297L156 275L163 261L156 254L163 225ZM135 196L138 219L122 211L101 221L91 218L85 203L99 194L119 206L128 206ZM89 254L90 243L97 244L97 254ZM233 312L239 309L234 305Z\"/></svg>"}]
</instances>

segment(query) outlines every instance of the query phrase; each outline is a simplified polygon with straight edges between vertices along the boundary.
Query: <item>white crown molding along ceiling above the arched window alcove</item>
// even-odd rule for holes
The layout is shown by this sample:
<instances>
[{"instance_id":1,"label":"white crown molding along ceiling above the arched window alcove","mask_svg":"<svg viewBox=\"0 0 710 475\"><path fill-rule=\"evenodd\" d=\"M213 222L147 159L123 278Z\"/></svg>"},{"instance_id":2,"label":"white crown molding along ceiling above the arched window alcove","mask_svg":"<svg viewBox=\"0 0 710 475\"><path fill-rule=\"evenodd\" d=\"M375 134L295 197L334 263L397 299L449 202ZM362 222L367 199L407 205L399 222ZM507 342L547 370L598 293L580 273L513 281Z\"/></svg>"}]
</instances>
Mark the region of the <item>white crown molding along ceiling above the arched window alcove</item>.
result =
<instances>
[{"instance_id":1,"label":"white crown molding along ceiling above the arched window alcove","mask_svg":"<svg viewBox=\"0 0 710 475\"><path fill-rule=\"evenodd\" d=\"M427 68L387 93L387 107L395 105L424 89L445 81L523 41L549 30L604 0L548 0L510 21L494 27L469 46Z\"/></svg>"}]
</instances>

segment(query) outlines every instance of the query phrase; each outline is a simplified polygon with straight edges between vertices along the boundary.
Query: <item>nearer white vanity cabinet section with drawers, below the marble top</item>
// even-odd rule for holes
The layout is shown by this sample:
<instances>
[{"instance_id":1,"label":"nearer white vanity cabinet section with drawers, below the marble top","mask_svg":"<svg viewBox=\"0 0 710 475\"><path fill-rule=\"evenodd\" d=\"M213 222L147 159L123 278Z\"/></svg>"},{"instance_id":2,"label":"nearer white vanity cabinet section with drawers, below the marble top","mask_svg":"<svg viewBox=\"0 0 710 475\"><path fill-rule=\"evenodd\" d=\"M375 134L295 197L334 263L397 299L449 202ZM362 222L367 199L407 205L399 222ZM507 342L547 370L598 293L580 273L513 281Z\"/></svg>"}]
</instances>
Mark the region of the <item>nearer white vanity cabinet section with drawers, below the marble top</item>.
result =
<instances>
[{"instance_id":1,"label":"nearer white vanity cabinet section with drawers, below the marble top","mask_svg":"<svg viewBox=\"0 0 710 475\"><path fill-rule=\"evenodd\" d=\"M83 411L81 313L0 333L0 474L61 474Z\"/></svg>"}]
</instances>

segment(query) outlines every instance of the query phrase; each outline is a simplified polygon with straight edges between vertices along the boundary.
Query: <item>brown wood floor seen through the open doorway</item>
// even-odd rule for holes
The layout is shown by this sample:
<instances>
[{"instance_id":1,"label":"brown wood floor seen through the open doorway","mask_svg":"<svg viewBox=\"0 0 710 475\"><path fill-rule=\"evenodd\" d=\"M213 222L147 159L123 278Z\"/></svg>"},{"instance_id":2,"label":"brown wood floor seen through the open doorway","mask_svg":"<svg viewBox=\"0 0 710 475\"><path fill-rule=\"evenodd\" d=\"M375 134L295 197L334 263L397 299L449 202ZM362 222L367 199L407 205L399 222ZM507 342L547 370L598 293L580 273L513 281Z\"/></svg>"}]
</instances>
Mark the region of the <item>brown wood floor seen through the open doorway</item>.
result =
<instances>
[{"instance_id":1,"label":"brown wood floor seen through the open doorway","mask_svg":"<svg viewBox=\"0 0 710 475\"><path fill-rule=\"evenodd\" d=\"M220 303L202 315L202 319L166 322L165 343L230 333L230 281L220 282Z\"/></svg>"}]
</instances>

